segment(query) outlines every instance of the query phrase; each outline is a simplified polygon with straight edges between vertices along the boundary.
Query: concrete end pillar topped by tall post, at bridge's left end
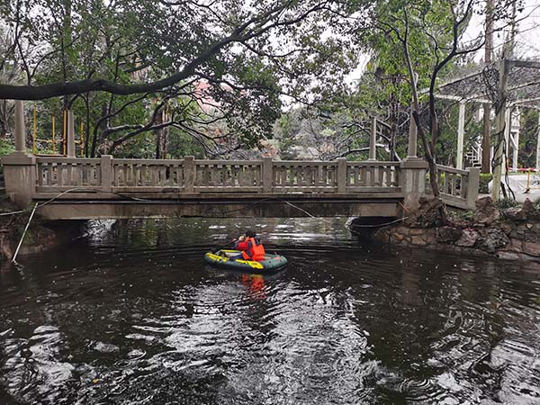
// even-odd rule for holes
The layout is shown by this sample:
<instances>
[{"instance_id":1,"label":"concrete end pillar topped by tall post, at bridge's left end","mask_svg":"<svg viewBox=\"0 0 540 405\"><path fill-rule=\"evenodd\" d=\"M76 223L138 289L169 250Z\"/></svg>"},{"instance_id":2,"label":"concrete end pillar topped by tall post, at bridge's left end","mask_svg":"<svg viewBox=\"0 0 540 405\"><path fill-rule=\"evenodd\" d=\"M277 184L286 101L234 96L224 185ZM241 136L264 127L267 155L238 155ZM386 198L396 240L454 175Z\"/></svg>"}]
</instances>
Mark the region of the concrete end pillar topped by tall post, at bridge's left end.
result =
<instances>
[{"instance_id":1,"label":"concrete end pillar topped by tall post, at bridge's left end","mask_svg":"<svg viewBox=\"0 0 540 405\"><path fill-rule=\"evenodd\" d=\"M5 193L17 206L26 208L36 191L36 158L26 153L23 102L15 101L15 151L2 157Z\"/></svg>"}]
</instances>

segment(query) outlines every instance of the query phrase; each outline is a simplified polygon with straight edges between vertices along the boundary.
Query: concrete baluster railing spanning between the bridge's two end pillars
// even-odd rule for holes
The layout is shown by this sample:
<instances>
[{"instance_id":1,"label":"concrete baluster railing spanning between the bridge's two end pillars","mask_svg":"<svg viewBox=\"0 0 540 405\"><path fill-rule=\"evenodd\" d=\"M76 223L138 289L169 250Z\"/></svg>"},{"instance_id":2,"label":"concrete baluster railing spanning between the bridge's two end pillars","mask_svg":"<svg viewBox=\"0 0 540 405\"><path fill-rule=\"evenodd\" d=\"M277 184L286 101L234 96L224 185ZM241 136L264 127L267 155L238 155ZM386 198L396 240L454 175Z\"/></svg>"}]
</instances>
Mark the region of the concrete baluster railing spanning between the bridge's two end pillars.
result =
<instances>
[{"instance_id":1,"label":"concrete baluster railing spanning between the bridge's two end pillars","mask_svg":"<svg viewBox=\"0 0 540 405\"><path fill-rule=\"evenodd\" d=\"M74 187L110 192L401 192L400 162L35 157L36 193Z\"/></svg>"}]
</instances>

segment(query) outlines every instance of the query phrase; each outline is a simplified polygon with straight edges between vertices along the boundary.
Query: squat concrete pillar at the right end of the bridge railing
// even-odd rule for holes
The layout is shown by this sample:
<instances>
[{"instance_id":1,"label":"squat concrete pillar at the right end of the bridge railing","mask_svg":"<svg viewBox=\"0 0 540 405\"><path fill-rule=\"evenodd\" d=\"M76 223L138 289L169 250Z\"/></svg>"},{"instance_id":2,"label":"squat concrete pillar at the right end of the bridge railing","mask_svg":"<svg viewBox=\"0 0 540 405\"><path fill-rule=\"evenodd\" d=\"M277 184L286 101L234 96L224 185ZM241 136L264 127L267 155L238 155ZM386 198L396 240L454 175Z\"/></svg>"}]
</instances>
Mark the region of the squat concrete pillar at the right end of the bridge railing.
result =
<instances>
[{"instance_id":1,"label":"squat concrete pillar at the right end of the bridge railing","mask_svg":"<svg viewBox=\"0 0 540 405\"><path fill-rule=\"evenodd\" d=\"M401 162L401 192L408 211L419 207L419 199L426 192L428 162L418 157L407 157Z\"/></svg>"}]
</instances>

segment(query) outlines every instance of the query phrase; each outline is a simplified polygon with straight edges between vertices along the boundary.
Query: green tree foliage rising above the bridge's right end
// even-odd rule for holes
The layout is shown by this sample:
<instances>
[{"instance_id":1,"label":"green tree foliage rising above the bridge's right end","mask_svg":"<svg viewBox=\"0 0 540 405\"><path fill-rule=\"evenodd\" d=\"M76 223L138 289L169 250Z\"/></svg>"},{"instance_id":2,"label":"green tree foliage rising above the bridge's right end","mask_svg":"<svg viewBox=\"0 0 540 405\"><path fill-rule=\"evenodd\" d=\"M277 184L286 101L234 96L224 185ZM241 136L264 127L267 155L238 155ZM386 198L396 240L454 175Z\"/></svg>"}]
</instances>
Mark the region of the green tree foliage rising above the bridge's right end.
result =
<instances>
[{"instance_id":1,"label":"green tree foliage rising above the bridge's right end","mask_svg":"<svg viewBox=\"0 0 540 405\"><path fill-rule=\"evenodd\" d=\"M362 7L350 4L352 8L356 6ZM380 130L383 130L382 139L388 145L388 152L382 152L380 158L393 159L394 153L399 157L407 154L412 90L402 40L407 35L411 64L418 75L417 88L427 88L437 62L446 57L445 52L451 49L454 40L453 7L455 4L444 0L374 2L368 14L376 23L364 25L359 22L352 29L356 33L356 42L370 55L365 73L353 91L343 88L343 91L331 94L322 108L329 110L332 120L340 121L342 128L347 124L353 129L355 126L369 128L372 117L385 121L390 129ZM408 23L407 28L405 22ZM464 23L459 28L458 35L466 25ZM453 64L450 63L437 71L437 75L443 78L452 69ZM422 101L427 101L425 95L421 95ZM438 107L442 109L445 104ZM457 121L457 108L447 109L447 113ZM423 127L429 128L426 117L421 118ZM367 146L369 135L358 135L356 148ZM437 161L454 165L455 129L445 130L440 138ZM419 142L419 152L422 148Z\"/></svg>"}]
</instances>

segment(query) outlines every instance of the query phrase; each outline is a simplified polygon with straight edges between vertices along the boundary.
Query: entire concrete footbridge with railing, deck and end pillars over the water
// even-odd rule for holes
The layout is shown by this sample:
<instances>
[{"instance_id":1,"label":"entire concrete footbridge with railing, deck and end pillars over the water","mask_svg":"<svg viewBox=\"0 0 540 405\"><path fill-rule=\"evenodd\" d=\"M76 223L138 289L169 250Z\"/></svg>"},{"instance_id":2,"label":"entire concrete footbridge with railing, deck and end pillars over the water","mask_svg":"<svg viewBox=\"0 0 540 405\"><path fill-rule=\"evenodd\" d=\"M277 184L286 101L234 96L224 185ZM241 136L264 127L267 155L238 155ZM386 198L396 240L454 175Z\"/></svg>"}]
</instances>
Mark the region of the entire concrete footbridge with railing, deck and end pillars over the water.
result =
<instances>
[{"instance_id":1,"label":"entire concrete footbridge with railing, deck and end pillars over the water","mask_svg":"<svg viewBox=\"0 0 540 405\"><path fill-rule=\"evenodd\" d=\"M38 157L25 150L22 108L17 102L16 150L2 159L5 189L22 208L37 202L40 215L50 220L401 217L426 191L426 162L414 156L375 160L374 134L366 161ZM69 154L75 148L69 136L67 142ZM440 166L446 202L473 206L478 177L477 169Z\"/></svg>"}]
</instances>

